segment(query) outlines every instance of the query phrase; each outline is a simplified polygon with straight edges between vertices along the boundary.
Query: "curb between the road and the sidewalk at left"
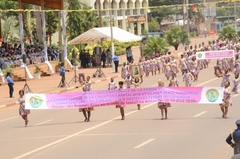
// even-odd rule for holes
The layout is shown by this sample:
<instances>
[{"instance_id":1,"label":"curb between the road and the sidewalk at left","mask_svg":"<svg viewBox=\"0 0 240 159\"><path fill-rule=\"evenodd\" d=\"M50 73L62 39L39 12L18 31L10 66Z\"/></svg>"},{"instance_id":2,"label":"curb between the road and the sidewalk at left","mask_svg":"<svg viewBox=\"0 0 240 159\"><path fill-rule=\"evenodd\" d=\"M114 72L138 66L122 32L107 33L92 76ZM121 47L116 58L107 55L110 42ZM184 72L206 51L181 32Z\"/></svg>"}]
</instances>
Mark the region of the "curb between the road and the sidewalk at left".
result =
<instances>
[{"instance_id":1,"label":"curb between the road and the sidewalk at left","mask_svg":"<svg viewBox=\"0 0 240 159\"><path fill-rule=\"evenodd\" d=\"M92 84L101 83L101 82L110 80L111 78L118 78L118 77L121 77L121 75L116 75L116 76L113 76L113 77L106 77L106 78L103 78L103 79L101 79L101 80L96 80L96 81L93 81ZM80 86L80 87L81 87L81 86ZM68 88L65 88L65 89L62 89L62 90L59 90L59 91L50 92L49 94L64 93L64 92L68 92L68 91L71 91L71 90L74 90L74 89L77 89L77 88L79 88L79 86L68 87ZM6 107L10 107L10 106L14 106L14 105L17 105L17 104L18 104L18 102L3 104L3 105L0 105L0 109L6 108Z\"/></svg>"}]
</instances>

